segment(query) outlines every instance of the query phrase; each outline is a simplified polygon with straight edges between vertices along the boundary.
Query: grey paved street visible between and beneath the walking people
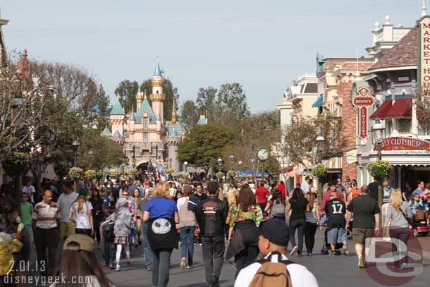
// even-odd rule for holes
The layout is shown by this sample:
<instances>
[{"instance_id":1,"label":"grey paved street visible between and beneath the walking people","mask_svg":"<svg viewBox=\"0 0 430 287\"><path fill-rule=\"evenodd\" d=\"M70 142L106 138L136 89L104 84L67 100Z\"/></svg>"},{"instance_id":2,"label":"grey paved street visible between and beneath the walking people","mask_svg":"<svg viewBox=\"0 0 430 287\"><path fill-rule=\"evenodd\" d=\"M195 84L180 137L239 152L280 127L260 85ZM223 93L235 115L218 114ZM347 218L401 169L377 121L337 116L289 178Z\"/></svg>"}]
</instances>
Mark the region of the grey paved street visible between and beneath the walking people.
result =
<instances>
[{"instance_id":1,"label":"grey paved street visible between and beneath the walking people","mask_svg":"<svg viewBox=\"0 0 430 287\"><path fill-rule=\"evenodd\" d=\"M357 259L354 255L349 257L338 256L328 257L320 255L321 245L323 242L321 231L317 232L317 243L315 246L315 255L313 257L290 258L293 261L305 265L314 273L321 287L345 286L345 287L363 287L363 286L384 286L377 284L371 277L368 276L364 269L357 268ZM426 238L430 240L430 238ZM352 242L349 241L350 250L352 250ZM123 271L107 271L109 278L121 287L146 287L152 286L151 272L146 271L143 266L141 248L133 248L132 262L130 267L123 265ZM353 253L353 252L351 252ZM171 259L171 280L168 286L206 286L204 281L204 267L202 264L202 248L195 248L195 265L193 269L181 270L179 266L180 252L174 250ZM414 278L409 283L403 286L428 286L430 272L430 259L424 259L424 273ZM221 286L233 286L234 271L231 266L224 264L221 273ZM426 283L427 282L427 283ZM389 286L389 285L385 285ZM402 285L400 285L402 286Z\"/></svg>"}]
</instances>

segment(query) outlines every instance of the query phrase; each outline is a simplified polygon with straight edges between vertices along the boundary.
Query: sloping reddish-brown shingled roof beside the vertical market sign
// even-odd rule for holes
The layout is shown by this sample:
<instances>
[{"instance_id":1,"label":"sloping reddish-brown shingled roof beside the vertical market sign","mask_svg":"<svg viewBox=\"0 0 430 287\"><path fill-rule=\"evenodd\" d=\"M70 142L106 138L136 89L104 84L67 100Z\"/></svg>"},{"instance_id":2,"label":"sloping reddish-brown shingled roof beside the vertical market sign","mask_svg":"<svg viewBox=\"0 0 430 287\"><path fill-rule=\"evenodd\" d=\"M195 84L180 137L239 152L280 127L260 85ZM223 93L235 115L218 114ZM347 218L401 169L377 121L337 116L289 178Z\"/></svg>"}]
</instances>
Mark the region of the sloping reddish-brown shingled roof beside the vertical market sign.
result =
<instances>
[{"instance_id":1,"label":"sloping reddish-brown shingled roof beside the vertical market sign","mask_svg":"<svg viewBox=\"0 0 430 287\"><path fill-rule=\"evenodd\" d=\"M383 68L417 66L418 28L412 28L397 44L371 66L370 71Z\"/></svg>"}]
</instances>

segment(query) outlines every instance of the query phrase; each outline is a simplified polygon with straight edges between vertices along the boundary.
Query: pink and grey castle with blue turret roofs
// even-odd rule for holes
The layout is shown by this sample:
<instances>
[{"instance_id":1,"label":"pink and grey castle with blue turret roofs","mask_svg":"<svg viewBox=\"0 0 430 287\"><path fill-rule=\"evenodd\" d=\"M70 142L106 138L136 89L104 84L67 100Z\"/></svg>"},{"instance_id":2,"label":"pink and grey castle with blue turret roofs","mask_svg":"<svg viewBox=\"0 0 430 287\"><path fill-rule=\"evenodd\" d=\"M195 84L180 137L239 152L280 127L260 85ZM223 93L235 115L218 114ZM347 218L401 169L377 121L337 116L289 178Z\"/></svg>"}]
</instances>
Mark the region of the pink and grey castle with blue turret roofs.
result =
<instances>
[{"instance_id":1,"label":"pink and grey castle with blue turret roofs","mask_svg":"<svg viewBox=\"0 0 430 287\"><path fill-rule=\"evenodd\" d=\"M183 126L176 121L176 102L173 99L171 121L164 121L163 94L164 71L156 59L152 76L152 93L136 94L137 111L125 114L118 99L113 103L110 114L111 130L105 128L102 135L123 146L128 157L128 166L147 170L151 165L158 171L174 169L181 171L178 160L178 145L185 136Z\"/></svg>"}]
</instances>

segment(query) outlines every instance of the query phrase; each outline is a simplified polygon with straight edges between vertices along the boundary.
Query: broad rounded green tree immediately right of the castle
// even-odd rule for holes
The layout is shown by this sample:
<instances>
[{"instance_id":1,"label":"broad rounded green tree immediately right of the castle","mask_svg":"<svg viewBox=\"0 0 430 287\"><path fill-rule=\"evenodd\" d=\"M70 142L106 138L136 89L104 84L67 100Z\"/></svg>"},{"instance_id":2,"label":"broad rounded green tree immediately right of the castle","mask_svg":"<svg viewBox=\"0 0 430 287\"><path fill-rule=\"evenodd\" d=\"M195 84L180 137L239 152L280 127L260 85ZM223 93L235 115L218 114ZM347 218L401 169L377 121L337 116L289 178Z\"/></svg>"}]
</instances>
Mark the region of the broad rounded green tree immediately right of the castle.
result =
<instances>
[{"instance_id":1,"label":"broad rounded green tree immediately right of the castle","mask_svg":"<svg viewBox=\"0 0 430 287\"><path fill-rule=\"evenodd\" d=\"M221 123L196 126L180 143L179 160L207 169L211 161L222 157L224 149L232 144L234 138L235 130Z\"/></svg>"}]
</instances>

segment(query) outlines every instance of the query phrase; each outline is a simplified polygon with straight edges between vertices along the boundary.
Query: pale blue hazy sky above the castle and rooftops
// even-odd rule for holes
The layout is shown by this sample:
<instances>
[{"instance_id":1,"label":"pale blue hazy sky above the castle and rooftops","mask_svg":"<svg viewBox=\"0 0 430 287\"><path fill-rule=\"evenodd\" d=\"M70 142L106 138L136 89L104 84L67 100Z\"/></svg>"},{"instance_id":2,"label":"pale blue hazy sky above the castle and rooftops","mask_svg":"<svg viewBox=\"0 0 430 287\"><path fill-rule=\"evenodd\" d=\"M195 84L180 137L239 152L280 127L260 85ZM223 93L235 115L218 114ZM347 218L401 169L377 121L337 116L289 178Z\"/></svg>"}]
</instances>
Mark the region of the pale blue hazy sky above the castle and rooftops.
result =
<instances>
[{"instance_id":1,"label":"pale blue hazy sky above the castle and rooftops","mask_svg":"<svg viewBox=\"0 0 430 287\"><path fill-rule=\"evenodd\" d=\"M180 103L199 87L238 82L258 113L315 72L317 52L367 56L374 23L389 14L412 26L422 0L2 0L0 8L8 50L85 68L111 100L121 80L151 78L158 56Z\"/></svg>"}]
</instances>

